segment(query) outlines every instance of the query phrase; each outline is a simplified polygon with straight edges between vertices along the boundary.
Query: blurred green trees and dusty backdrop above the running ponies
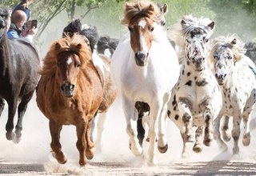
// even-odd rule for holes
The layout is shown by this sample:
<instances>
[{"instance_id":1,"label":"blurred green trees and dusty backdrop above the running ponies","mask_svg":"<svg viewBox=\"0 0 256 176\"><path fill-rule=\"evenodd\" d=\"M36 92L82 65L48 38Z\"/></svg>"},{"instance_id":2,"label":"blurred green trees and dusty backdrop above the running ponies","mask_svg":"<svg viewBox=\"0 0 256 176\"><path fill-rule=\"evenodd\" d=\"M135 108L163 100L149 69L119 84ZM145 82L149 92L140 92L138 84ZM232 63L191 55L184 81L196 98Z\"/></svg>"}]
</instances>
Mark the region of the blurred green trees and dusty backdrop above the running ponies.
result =
<instances>
[{"instance_id":1,"label":"blurred green trees and dusty backdrop above the running ponies","mask_svg":"<svg viewBox=\"0 0 256 176\"><path fill-rule=\"evenodd\" d=\"M167 3L166 26L178 22L183 15L211 18L216 22L214 36L238 34L244 42L256 42L256 0L152 0ZM19 0L0 0L10 9ZM34 0L31 18L38 19L38 46L47 49L60 38L62 29L74 18L97 26L101 35L121 38L126 29L120 24L126 0Z\"/></svg>"}]
</instances>

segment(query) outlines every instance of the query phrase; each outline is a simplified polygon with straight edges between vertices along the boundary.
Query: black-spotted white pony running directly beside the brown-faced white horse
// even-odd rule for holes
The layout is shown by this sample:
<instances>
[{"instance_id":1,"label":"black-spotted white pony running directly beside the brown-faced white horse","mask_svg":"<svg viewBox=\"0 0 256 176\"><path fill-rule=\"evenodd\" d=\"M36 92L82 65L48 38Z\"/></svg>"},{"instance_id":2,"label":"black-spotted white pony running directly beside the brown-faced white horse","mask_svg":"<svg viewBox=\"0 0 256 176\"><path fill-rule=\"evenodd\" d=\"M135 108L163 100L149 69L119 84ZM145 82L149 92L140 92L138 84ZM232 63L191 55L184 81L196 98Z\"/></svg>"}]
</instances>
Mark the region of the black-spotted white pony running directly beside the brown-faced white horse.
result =
<instances>
[{"instance_id":1,"label":"black-spotted white pony running directly beside the brown-faced white horse","mask_svg":"<svg viewBox=\"0 0 256 176\"><path fill-rule=\"evenodd\" d=\"M173 37L178 39L175 42L183 50L183 58L180 77L172 90L167 114L181 131L184 157L189 154L186 143L194 142L192 126L198 126L193 150L201 152L202 141L210 146L214 139L213 120L222 108L221 90L206 62L213 30L214 22L209 18L188 15L175 24L171 31Z\"/></svg>"}]
</instances>

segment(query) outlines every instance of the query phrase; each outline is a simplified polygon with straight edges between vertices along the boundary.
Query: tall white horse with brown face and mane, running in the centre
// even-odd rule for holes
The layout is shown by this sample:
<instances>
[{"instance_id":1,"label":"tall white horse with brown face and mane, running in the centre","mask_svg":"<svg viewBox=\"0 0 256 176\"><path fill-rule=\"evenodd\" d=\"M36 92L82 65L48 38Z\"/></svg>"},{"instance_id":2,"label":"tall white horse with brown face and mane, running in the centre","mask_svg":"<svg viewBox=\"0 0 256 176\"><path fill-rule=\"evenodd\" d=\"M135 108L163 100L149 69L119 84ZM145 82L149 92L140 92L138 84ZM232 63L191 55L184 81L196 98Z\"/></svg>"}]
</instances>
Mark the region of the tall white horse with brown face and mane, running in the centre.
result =
<instances>
[{"instance_id":1,"label":"tall white horse with brown face and mane, running in the centre","mask_svg":"<svg viewBox=\"0 0 256 176\"><path fill-rule=\"evenodd\" d=\"M127 2L122 23L128 26L130 37L119 42L111 58L111 76L122 94L126 116L126 132L130 149L142 154L137 138L137 102L150 107L150 148L148 164L155 161L155 140L158 150L167 150L165 115L170 90L178 80L178 58L160 24L161 12L152 2ZM148 109L146 109L148 110Z\"/></svg>"}]
</instances>

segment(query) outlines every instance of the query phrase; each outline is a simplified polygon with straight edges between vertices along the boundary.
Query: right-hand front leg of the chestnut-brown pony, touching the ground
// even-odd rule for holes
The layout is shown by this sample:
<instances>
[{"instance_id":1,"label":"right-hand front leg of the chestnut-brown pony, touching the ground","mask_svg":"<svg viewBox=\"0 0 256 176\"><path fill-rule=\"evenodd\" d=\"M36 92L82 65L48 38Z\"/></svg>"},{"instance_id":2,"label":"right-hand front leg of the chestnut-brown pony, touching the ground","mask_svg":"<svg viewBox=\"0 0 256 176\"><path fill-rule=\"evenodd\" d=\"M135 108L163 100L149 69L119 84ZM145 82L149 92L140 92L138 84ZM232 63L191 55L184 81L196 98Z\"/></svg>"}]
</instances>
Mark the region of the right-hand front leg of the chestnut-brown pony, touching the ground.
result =
<instances>
[{"instance_id":1,"label":"right-hand front leg of the chestnut-brown pony, touching the ground","mask_svg":"<svg viewBox=\"0 0 256 176\"><path fill-rule=\"evenodd\" d=\"M88 122L80 122L76 127L77 127L77 136L78 136L78 141L77 141L77 148L79 151L79 164L80 166L85 166L86 165L86 130L87 130ZM88 134L90 135L90 134Z\"/></svg>"}]
</instances>

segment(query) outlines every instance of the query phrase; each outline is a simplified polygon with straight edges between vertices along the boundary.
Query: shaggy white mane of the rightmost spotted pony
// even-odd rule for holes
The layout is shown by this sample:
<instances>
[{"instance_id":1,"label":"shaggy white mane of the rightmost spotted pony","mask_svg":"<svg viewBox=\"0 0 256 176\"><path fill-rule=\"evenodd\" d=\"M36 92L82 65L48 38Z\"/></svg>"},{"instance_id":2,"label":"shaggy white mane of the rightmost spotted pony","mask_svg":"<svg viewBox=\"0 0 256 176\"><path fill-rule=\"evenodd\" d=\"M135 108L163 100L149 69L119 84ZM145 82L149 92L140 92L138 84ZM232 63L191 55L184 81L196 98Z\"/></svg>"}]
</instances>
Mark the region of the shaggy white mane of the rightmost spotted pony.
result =
<instances>
[{"instance_id":1,"label":"shaggy white mane of the rightmost spotted pony","mask_svg":"<svg viewBox=\"0 0 256 176\"><path fill-rule=\"evenodd\" d=\"M236 43L232 43L232 41L236 41ZM219 36L218 38L214 38L211 42L210 56L213 57L214 52L221 46L226 46L232 50L234 54L234 58L236 61L239 61L242 58L242 55L246 54L246 49L244 48L244 42L238 37L238 34L228 34L226 37Z\"/></svg>"}]
</instances>

